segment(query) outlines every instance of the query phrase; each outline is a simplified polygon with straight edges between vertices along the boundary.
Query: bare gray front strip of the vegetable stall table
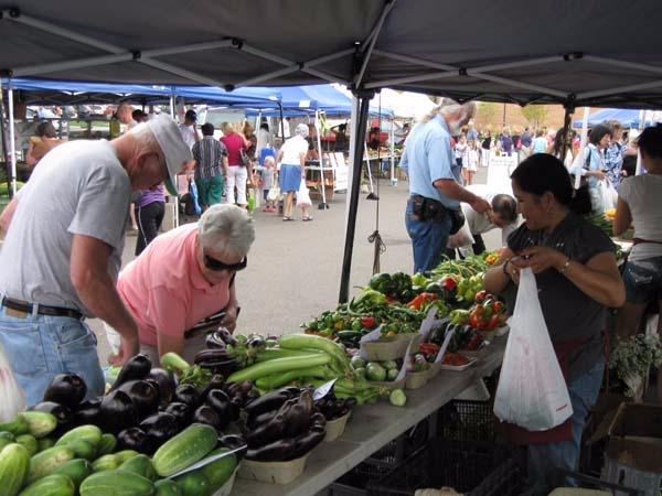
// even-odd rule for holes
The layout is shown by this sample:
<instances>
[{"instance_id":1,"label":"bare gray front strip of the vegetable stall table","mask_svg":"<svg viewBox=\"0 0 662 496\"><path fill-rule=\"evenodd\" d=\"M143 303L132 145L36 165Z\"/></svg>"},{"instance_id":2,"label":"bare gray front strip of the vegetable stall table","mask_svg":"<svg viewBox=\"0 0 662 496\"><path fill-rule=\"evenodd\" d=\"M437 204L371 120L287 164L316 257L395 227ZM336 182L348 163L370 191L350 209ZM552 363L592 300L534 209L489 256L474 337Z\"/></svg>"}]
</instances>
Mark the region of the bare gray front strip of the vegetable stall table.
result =
<instances>
[{"instance_id":1,"label":"bare gray front strip of the vegetable stall table","mask_svg":"<svg viewBox=\"0 0 662 496\"><path fill-rule=\"evenodd\" d=\"M296 481L287 485L275 485L237 478L232 495L317 494L380 448L436 412L477 380L491 375L501 366L505 342L506 337L495 338L473 367L465 371L442 370L424 388L408 390L406 407L392 407L381 402L356 408L343 435L314 449L308 459L306 471Z\"/></svg>"}]
</instances>

